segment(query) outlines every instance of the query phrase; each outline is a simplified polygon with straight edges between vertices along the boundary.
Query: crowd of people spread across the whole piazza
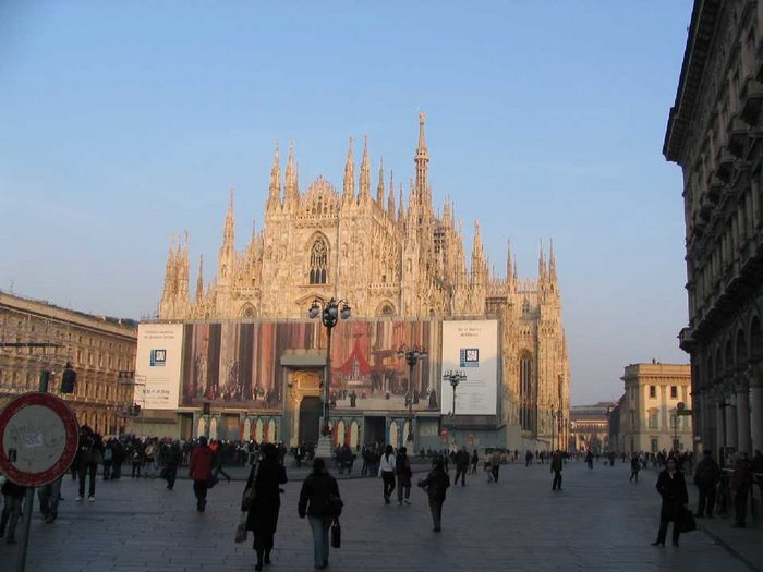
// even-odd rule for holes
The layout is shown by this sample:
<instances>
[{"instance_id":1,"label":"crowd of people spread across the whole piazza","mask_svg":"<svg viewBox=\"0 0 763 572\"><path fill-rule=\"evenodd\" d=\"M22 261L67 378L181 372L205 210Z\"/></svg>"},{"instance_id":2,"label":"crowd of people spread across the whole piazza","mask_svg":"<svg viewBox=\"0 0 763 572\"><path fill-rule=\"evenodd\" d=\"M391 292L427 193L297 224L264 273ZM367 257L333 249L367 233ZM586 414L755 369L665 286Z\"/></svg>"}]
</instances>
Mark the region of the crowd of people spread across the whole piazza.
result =
<instances>
[{"instance_id":1,"label":"crowd of people spread across the whole piazza","mask_svg":"<svg viewBox=\"0 0 763 572\"><path fill-rule=\"evenodd\" d=\"M405 447L396 449L389 443L376 442L353 450L342 445L335 449L329 462L339 474L351 474L359 454L362 460L360 476L380 478L382 498L386 504L392 502L396 490L399 506L411 504L413 460ZM249 500L242 500L241 526L253 533L255 570L263 570L264 565L270 563L281 506L280 495L283 492L281 485L288 480L289 457L293 457L293 466L312 466L300 491L298 514L307 519L313 534L314 565L316 569L323 569L328 565L329 536L334 533L334 527L338 526L343 502L336 478L329 473L326 461L315 458L312 446L303 445L287 450L281 443L261 446L255 441L216 441L205 436L187 441L136 436L104 439L87 425L83 425L80 429L78 449L71 465L71 475L78 485L75 500L87 499L95 502L99 474L104 480L119 480L123 467L131 467L132 478L164 478L167 488L172 490L178 472L181 467L187 467L187 476L193 482L196 510L203 513L209 489L220 477L230 480L225 466L247 466L249 477L242 499ZM520 451L491 448L484 449L481 454L476 449L470 451L465 446L461 446L441 450L420 450L417 457L415 461L420 465L428 465L429 470L416 485L426 492L433 531L440 532L443 506L447 489L451 486L450 466L456 471L452 483L455 486L459 483L462 487L467 486L467 476L477 473L481 461L486 480L497 483L501 465L519 461ZM630 461L631 483L639 483L641 471L649 467L659 470L656 488L662 504L657 538L653 543L655 546L665 544L670 522L674 523L671 541L674 546L678 546L681 522L687 512L692 512L697 518L713 518L718 510L726 510L726 502L734 507L734 526L746 526L746 508L749 492L755 483L754 475L763 474L763 454L760 451L755 451L752 459L744 453L736 453L732 466L726 470L713 459L711 451L703 451L702 459L697 464L691 453L674 454L667 451L637 452L630 457L625 453L597 454L593 451L568 454L559 450L526 450L523 454L525 466L548 463L553 474L552 490L555 491L562 490L562 473L569 461L585 461L589 467L593 468L594 461L603 460L605 465L611 466L617 457L620 457L623 463ZM691 475L691 482L697 487L697 511L688 511L689 477L685 475ZM58 518L61 478L63 476L37 489L40 512L46 523L53 523ZM728 491L724 488L725 479ZM10 480L2 485L4 504L0 519L0 537L4 537L11 544L15 543L15 528L23 511L25 492L25 487Z\"/></svg>"}]
</instances>

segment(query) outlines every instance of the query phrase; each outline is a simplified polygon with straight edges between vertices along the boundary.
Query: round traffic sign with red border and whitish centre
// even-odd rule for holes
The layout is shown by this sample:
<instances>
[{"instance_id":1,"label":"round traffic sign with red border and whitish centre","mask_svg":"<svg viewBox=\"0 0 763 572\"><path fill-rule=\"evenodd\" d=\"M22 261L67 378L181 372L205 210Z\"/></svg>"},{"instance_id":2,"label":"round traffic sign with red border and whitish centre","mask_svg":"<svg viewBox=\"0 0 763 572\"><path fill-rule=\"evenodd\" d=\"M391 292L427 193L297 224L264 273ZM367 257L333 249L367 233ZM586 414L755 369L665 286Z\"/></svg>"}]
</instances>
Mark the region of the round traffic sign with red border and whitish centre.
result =
<instances>
[{"instance_id":1,"label":"round traffic sign with red border and whitish centre","mask_svg":"<svg viewBox=\"0 0 763 572\"><path fill-rule=\"evenodd\" d=\"M25 393L0 411L0 471L17 485L56 480L72 464L78 441L76 416L56 395Z\"/></svg>"}]
</instances>

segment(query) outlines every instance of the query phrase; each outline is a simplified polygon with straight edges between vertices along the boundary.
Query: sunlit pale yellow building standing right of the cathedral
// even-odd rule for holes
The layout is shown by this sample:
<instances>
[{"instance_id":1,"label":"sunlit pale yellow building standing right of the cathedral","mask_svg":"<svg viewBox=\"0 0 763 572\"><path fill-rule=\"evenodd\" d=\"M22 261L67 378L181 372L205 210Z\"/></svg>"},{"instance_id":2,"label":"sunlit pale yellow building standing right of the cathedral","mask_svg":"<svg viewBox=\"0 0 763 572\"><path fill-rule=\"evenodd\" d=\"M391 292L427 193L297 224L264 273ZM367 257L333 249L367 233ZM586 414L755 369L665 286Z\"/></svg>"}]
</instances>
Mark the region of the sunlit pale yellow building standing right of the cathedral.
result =
<instances>
[{"instance_id":1,"label":"sunlit pale yellow building standing right of the cathedral","mask_svg":"<svg viewBox=\"0 0 763 572\"><path fill-rule=\"evenodd\" d=\"M622 376L617 452L692 451L689 364L631 364ZM682 405L681 405L682 404Z\"/></svg>"}]
</instances>

